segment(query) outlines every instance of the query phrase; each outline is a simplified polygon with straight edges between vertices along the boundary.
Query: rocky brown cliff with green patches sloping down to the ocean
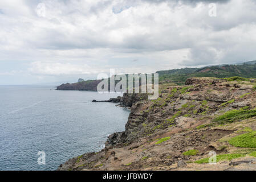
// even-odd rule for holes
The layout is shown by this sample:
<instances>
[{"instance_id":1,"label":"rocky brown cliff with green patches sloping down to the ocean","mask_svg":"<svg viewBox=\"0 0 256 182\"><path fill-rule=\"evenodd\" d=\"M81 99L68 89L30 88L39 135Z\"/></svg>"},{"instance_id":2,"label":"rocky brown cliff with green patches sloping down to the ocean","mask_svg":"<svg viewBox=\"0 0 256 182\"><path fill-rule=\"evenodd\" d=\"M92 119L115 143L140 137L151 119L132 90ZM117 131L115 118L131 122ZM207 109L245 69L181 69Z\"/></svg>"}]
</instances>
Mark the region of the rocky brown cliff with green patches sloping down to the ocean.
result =
<instances>
[{"instance_id":1,"label":"rocky brown cliff with green patches sloping down to the ocean","mask_svg":"<svg viewBox=\"0 0 256 182\"><path fill-rule=\"evenodd\" d=\"M125 131L59 170L256 169L256 86L233 80L189 78L155 101L125 94L119 98L131 106ZM217 153L217 166L204 164L209 151Z\"/></svg>"}]
</instances>

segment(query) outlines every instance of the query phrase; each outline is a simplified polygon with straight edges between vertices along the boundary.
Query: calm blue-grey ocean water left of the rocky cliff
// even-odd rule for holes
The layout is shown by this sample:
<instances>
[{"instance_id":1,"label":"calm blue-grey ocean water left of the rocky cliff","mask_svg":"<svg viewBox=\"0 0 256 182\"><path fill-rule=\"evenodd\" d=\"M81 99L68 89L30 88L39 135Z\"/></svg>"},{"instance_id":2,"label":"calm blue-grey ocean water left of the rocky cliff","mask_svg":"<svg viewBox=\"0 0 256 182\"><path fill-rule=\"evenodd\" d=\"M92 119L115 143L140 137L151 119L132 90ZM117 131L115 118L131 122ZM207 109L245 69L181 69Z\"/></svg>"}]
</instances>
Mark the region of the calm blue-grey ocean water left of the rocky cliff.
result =
<instances>
[{"instance_id":1,"label":"calm blue-grey ocean water left of the rocky cliff","mask_svg":"<svg viewBox=\"0 0 256 182\"><path fill-rule=\"evenodd\" d=\"M129 110L108 100L118 94L60 91L50 86L0 86L0 170L54 170L99 151L123 131ZM38 151L46 165L38 164Z\"/></svg>"}]
</instances>

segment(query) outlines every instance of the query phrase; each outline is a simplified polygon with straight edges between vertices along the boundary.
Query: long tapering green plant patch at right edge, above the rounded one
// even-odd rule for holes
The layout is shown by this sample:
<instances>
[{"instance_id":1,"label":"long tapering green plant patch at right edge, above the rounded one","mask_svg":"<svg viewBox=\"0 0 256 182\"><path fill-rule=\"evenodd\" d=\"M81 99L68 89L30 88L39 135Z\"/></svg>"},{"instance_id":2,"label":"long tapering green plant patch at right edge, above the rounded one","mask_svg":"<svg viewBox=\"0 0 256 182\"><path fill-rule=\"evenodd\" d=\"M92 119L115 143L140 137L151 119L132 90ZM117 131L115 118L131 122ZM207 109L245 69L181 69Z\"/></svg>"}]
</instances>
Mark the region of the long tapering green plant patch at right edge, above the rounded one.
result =
<instances>
[{"instance_id":1,"label":"long tapering green plant patch at right edge, above the rounded one","mask_svg":"<svg viewBox=\"0 0 256 182\"><path fill-rule=\"evenodd\" d=\"M243 119L248 119L256 116L256 109L254 110L230 110L223 115L218 116L213 121L218 123L229 123L234 121L239 121Z\"/></svg>"}]
</instances>

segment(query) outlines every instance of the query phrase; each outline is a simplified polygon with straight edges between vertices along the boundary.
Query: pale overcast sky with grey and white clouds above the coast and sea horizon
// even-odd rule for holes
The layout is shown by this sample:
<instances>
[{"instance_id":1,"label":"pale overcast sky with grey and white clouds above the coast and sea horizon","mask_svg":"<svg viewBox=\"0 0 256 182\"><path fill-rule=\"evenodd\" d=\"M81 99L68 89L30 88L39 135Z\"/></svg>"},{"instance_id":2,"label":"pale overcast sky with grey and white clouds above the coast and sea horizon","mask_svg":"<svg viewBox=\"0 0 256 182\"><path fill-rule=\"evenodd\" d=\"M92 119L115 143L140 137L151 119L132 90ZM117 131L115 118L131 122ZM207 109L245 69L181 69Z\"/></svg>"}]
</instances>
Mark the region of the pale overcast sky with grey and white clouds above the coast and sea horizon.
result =
<instances>
[{"instance_id":1,"label":"pale overcast sky with grey and white clouds above the coast and sea horizon","mask_svg":"<svg viewBox=\"0 0 256 182\"><path fill-rule=\"evenodd\" d=\"M0 1L0 84L256 60L255 10L255 0Z\"/></svg>"}]
</instances>

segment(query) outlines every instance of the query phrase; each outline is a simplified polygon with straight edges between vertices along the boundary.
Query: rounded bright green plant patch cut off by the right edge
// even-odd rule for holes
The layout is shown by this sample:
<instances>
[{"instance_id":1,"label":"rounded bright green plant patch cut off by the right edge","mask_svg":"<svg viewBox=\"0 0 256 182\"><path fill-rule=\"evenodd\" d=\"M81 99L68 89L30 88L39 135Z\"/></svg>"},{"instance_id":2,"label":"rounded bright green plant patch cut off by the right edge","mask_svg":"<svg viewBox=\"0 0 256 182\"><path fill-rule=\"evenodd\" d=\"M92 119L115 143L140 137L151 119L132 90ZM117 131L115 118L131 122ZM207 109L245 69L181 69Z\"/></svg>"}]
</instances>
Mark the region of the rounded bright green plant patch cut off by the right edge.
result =
<instances>
[{"instance_id":1,"label":"rounded bright green plant patch cut off by the right edge","mask_svg":"<svg viewBox=\"0 0 256 182\"><path fill-rule=\"evenodd\" d=\"M256 131L233 137L229 139L229 143L234 147L256 148Z\"/></svg>"}]
</instances>

